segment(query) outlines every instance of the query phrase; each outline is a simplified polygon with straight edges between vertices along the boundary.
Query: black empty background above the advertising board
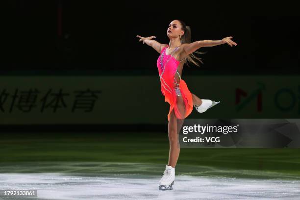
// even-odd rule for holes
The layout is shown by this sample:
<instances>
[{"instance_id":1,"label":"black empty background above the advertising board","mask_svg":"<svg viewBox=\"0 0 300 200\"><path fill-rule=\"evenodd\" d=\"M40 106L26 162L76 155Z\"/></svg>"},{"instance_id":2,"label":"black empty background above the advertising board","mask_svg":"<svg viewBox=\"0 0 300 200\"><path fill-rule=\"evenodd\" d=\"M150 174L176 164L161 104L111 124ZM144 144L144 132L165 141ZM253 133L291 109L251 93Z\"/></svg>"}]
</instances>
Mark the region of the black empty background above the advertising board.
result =
<instances>
[{"instance_id":1,"label":"black empty background above the advertising board","mask_svg":"<svg viewBox=\"0 0 300 200\"><path fill-rule=\"evenodd\" d=\"M149 5L152 4L153 7ZM253 7L253 9L252 9ZM191 26L192 42L232 36L227 44L199 49L201 68L219 74L299 74L299 21L295 6L158 2L104 5L96 1L7 1L1 69L130 70L157 73L159 54L136 35L168 44L172 20Z\"/></svg>"}]
</instances>

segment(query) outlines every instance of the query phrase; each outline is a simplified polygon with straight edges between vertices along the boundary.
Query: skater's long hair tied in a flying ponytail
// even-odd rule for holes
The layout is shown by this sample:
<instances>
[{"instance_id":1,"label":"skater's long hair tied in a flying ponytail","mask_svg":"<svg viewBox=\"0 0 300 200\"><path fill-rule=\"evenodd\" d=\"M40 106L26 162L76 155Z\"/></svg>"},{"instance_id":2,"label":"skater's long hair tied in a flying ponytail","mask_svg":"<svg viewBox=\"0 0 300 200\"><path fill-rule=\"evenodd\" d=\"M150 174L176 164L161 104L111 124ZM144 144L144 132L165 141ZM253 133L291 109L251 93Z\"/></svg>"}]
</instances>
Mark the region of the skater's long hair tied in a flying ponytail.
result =
<instances>
[{"instance_id":1,"label":"skater's long hair tied in a flying ponytail","mask_svg":"<svg viewBox=\"0 0 300 200\"><path fill-rule=\"evenodd\" d=\"M189 44L191 43L191 28L188 25L185 25L185 23L181 20L178 20L181 24L181 30L184 31L184 34L182 35L182 37L180 38L180 43L181 44ZM200 67L199 63L197 61L200 61L202 64L204 64L201 60L201 58L198 58L197 56L194 55L194 53L198 53L198 54L204 54L206 52L200 52L195 50L193 53L187 55L187 59L185 60L185 63L189 66L188 61L191 63L194 63L195 65L197 65L198 67ZM196 61L197 60L197 61Z\"/></svg>"}]
</instances>

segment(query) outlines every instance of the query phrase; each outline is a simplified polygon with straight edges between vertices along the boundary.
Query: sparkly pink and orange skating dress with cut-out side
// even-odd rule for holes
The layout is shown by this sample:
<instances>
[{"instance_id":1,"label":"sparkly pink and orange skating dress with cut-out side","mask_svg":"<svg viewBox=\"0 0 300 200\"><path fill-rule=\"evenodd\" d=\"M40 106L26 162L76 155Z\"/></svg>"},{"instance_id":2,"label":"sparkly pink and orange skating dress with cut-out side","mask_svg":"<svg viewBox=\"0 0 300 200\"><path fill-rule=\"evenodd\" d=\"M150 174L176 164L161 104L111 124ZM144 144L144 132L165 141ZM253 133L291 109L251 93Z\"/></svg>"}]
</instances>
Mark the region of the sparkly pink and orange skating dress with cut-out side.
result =
<instances>
[{"instance_id":1,"label":"sparkly pink and orange skating dress with cut-out side","mask_svg":"<svg viewBox=\"0 0 300 200\"><path fill-rule=\"evenodd\" d=\"M167 47L169 47L169 45ZM184 119L191 114L193 110L193 99L185 81L181 79L177 71L181 61L176 60L175 57L173 57L173 53L178 47L176 47L170 55L166 54L167 47L161 50L156 65L161 83L161 92L165 96L165 101L170 104L168 114L168 121L170 121L170 115L173 109L175 109L177 119ZM179 82L176 81L175 75L179 77ZM184 101L185 113L180 113L177 106L177 98L180 97L182 97Z\"/></svg>"}]
</instances>

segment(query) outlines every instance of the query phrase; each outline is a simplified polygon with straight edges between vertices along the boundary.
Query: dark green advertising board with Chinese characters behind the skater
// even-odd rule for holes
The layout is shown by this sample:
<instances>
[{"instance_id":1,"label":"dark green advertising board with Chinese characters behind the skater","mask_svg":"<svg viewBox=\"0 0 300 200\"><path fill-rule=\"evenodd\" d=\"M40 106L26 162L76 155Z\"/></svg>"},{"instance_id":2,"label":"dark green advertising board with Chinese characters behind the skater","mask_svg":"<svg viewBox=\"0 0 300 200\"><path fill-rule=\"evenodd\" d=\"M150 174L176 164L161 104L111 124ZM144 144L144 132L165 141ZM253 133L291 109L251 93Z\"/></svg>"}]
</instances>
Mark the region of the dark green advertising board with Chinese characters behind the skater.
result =
<instances>
[{"instance_id":1,"label":"dark green advertising board with Chinese characters behind the skater","mask_svg":"<svg viewBox=\"0 0 300 200\"><path fill-rule=\"evenodd\" d=\"M300 118L295 75L187 75L191 93L221 101L188 118ZM157 75L9 75L0 78L0 124L165 124Z\"/></svg>"}]
</instances>

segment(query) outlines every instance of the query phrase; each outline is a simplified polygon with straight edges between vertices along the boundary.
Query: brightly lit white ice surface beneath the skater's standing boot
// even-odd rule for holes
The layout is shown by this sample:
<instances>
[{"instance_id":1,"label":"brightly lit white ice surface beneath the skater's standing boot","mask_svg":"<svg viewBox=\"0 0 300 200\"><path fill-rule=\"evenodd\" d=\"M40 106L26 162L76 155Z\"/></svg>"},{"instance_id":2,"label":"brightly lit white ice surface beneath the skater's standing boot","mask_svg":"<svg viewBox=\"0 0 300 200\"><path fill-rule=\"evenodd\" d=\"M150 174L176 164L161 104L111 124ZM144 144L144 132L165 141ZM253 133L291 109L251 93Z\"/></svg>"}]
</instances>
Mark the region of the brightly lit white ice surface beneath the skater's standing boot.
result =
<instances>
[{"instance_id":1,"label":"brightly lit white ice surface beneath the skater's standing boot","mask_svg":"<svg viewBox=\"0 0 300 200\"><path fill-rule=\"evenodd\" d=\"M96 168L101 166L94 164ZM2 173L0 173L0 186L1 189L37 189L38 198L31 198L32 200L300 199L300 180L287 180L286 177L283 180L280 176L278 176L279 178L241 178L234 177L234 175L232 177L176 175L174 190L159 191L158 181L161 178L160 175L124 173L126 169L130 167L132 169L133 165L124 165L123 170L121 170L122 165L114 166L105 168L102 165L100 167L102 171L99 174L72 172L28 173L28 171L24 172L26 166L21 168L15 166L23 173L3 173L5 171L4 167ZM139 168L141 169L142 166L140 165ZM40 167L43 168L42 165ZM33 166L30 168L32 171L35 170ZM66 166L66 169L70 169L70 166ZM118 169L121 173L103 174L108 169L110 172ZM16 171L13 168L11 170ZM160 171L163 172L163 169L160 169ZM243 171L241 173L247 172ZM248 173L250 174L250 172ZM275 176L275 174L272 174L272 176ZM4 200L3 197L1 199Z\"/></svg>"}]
</instances>

